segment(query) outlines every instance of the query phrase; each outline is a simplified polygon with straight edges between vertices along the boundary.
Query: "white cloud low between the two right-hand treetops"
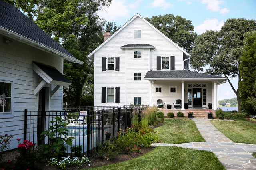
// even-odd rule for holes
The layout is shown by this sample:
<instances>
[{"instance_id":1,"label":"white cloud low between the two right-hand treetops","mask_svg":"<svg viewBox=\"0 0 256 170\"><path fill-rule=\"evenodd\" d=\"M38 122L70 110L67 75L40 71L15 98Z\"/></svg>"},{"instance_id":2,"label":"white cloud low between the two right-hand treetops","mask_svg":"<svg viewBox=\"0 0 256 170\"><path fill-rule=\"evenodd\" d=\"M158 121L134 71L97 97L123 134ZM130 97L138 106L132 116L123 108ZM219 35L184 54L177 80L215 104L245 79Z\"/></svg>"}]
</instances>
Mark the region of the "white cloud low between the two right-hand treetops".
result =
<instances>
[{"instance_id":1,"label":"white cloud low between the two right-hand treetops","mask_svg":"<svg viewBox=\"0 0 256 170\"><path fill-rule=\"evenodd\" d=\"M219 31L223 25L224 25L223 20L219 22L218 19L216 18L212 20L210 20L209 18L206 18L206 20L204 20L204 24L200 24L195 27L195 32L197 32L198 34L202 34L206 30Z\"/></svg>"}]
</instances>

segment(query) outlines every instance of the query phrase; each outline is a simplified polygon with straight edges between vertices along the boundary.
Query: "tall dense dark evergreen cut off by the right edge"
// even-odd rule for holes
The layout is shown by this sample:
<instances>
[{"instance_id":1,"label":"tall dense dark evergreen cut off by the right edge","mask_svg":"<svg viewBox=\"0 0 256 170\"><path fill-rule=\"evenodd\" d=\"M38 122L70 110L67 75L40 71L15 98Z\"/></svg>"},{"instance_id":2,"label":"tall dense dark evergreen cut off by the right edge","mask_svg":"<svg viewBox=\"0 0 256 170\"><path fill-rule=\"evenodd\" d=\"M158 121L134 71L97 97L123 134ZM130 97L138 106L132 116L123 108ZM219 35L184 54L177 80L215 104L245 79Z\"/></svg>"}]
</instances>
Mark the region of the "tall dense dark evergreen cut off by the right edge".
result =
<instances>
[{"instance_id":1,"label":"tall dense dark evergreen cut off by the right edge","mask_svg":"<svg viewBox=\"0 0 256 170\"><path fill-rule=\"evenodd\" d=\"M246 38L244 52L239 65L241 81L239 95L241 105L248 113L256 112L256 32Z\"/></svg>"}]
</instances>

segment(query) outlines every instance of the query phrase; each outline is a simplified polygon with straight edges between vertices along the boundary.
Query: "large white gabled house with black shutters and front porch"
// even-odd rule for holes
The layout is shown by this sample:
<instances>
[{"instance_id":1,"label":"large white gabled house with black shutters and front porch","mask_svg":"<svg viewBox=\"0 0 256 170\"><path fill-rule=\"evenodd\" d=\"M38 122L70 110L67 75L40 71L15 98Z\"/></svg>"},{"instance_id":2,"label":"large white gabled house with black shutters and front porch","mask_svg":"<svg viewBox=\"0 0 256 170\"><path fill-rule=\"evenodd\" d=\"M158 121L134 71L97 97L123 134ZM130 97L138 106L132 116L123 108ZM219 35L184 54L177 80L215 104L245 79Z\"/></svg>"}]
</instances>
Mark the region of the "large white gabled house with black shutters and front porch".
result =
<instances>
[{"instance_id":1,"label":"large white gabled house with black shutters and front porch","mask_svg":"<svg viewBox=\"0 0 256 170\"><path fill-rule=\"evenodd\" d=\"M109 33L105 34L106 38ZM108 36L108 37L107 37ZM88 55L94 60L94 106L165 104L217 109L226 77L187 71L190 55L136 14ZM166 106L165 106L166 107Z\"/></svg>"}]
</instances>

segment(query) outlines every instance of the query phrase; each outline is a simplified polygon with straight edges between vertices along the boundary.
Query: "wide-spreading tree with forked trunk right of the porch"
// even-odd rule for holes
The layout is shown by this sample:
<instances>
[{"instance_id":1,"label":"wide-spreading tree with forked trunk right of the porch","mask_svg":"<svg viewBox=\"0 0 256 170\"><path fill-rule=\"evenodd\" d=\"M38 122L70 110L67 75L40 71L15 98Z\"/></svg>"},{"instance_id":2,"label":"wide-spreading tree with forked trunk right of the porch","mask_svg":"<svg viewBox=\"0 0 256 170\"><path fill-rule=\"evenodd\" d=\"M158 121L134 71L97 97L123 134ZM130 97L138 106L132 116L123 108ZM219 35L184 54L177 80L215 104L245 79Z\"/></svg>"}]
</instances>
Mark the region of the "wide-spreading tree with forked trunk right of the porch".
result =
<instances>
[{"instance_id":1,"label":"wide-spreading tree with forked trunk right of the porch","mask_svg":"<svg viewBox=\"0 0 256 170\"><path fill-rule=\"evenodd\" d=\"M244 47L244 38L246 33L256 30L255 20L246 20L245 18L228 19L220 31L206 31L199 35L191 53L192 68L196 71L203 71L212 75L224 75L228 78L238 77L241 81L238 70L240 58ZM228 80L238 101L238 111L240 110L240 97L238 89L235 89L231 81Z\"/></svg>"}]
</instances>

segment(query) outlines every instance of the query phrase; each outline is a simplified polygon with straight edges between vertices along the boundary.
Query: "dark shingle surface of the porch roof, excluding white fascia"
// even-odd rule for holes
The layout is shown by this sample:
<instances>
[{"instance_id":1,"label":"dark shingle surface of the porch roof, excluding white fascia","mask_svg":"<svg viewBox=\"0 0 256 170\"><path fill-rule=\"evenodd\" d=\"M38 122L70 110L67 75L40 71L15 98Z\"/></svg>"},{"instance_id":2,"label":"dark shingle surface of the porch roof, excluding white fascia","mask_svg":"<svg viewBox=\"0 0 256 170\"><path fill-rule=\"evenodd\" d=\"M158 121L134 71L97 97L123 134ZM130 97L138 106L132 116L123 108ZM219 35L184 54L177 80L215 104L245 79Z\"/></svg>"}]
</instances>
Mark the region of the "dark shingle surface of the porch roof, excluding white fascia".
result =
<instances>
[{"instance_id":1,"label":"dark shingle surface of the porch roof, excluding white fascia","mask_svg":"<svg viewBox=\"0 0 256 170\"><path fill-rule=\"evenodd\" d=\"M216 78L226 78L218 75L209 75L204 73L195 73L186 70L158 70L158 71L148 71L144 77L145 79L216 79Z\"/></svg>"}]
</instances>

